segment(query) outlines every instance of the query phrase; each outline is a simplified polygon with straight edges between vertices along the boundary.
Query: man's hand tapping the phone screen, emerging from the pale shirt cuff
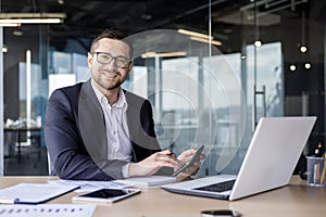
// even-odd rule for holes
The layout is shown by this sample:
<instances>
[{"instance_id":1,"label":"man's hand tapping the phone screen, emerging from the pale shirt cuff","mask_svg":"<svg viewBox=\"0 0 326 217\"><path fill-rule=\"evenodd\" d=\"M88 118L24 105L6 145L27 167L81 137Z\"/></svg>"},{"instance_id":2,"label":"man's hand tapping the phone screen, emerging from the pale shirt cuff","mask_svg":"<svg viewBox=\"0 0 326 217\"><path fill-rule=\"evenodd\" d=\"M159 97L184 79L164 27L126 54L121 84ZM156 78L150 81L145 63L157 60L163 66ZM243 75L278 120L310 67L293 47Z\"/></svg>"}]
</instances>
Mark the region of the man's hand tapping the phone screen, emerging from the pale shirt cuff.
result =
<instances>
[{"instance_id":1,"label":"man's hand tapping the phone screen, emerging from the pale shirt cuff","mask_svg":"<svg viewBox=\"0 0 326 217\"><path fill-rule=\"evenodd\" d=\"M156 152L141 162L130 163L128 176L150 176L155 174L164 166L176 169L181 166L181 164L183 162L176 158L172 151L165 150L162 152Z\"/></svg>"}]
</instances>

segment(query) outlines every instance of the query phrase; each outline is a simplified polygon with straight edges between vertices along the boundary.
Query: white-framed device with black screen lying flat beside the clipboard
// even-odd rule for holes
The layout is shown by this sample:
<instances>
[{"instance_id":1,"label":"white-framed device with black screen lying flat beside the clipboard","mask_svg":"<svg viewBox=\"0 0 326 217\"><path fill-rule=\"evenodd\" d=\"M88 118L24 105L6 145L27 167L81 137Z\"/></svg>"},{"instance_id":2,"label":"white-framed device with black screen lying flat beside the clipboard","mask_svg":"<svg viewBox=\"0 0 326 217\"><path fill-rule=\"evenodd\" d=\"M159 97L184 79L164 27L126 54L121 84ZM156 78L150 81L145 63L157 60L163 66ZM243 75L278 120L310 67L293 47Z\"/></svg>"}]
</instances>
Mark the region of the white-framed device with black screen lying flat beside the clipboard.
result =
<instances>
[{"instance_id":1,"label":"white-framed device with black screen lying flat beside the clipboard","mask_svg":"<svg viewBox=\"0 0 326 217\"><path fill-rule=\"evenodd\" d=\"M73 202L95 202L110 204L140 193L139 189L100 189L73 197Z\"/></svg>"}]
</instances>

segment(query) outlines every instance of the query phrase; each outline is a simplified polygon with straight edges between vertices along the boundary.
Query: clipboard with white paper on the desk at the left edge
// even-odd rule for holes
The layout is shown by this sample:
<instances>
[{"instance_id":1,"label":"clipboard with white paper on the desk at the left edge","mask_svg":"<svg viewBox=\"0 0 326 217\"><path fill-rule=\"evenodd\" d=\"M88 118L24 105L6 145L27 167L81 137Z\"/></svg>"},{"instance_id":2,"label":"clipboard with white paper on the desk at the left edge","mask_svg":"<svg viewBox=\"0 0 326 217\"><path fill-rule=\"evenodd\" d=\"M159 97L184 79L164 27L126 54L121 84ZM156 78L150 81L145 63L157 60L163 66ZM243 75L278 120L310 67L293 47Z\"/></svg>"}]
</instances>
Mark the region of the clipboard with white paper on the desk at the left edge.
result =
<instances>
[{"instance_id":1,"label":"clipboard with white paper on the desk at the left edge","mask_svg":"<svg viewBox=\"0 0 326 217\"><path fill-rule=\"evenodd\" d=\"M38 204L79 188L57 183L18 183L0 190L0 203Z\"/></svg>"}]
</instances>

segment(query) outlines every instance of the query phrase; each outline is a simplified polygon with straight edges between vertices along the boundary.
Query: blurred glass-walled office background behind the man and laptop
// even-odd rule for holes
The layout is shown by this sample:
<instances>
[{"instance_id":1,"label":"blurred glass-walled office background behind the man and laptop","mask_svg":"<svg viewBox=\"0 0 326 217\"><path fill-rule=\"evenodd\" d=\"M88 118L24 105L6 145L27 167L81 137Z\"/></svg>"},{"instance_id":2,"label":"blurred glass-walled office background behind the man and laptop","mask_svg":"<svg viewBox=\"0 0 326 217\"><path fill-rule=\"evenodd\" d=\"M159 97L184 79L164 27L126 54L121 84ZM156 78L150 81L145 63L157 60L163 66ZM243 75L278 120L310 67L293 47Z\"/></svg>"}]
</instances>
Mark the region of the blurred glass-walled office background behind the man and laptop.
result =
<instances>
[{"instance_id":1,"label":"blurred glass-walled office background behind the man and laptop","mask_svg":"<svg viewBox=\"0 0 326 217\"><path fill-rule=\"evenodd\" d=\"M325 4L0 0L0 174L48 174L47 99L89 78L90 40L110 27L136 41L124 88L152 102L162 146L206 145L200 175L237 173L262 116L316 115L302 156L313 154L325 143Z\"/></svg>"}]
</instances>

